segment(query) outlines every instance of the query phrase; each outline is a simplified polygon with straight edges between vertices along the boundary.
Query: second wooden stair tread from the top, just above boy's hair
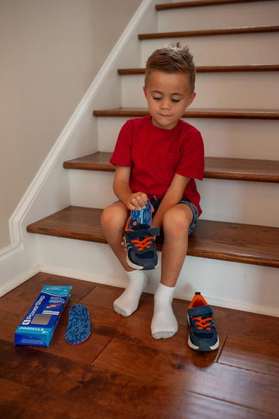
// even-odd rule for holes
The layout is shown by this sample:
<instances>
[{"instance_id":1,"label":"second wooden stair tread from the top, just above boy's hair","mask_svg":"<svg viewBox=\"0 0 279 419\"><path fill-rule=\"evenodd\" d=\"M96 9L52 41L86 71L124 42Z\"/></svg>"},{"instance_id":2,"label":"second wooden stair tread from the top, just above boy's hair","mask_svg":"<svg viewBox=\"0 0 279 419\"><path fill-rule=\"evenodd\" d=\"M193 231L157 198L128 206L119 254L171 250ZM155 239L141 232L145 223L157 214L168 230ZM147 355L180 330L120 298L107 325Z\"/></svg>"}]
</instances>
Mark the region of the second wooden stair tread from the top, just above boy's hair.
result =
<instances>
[{"instance_id":1,"label":"second wooden stair tread from the top, just above boy's hair","mask_svg":"<svg viewBox=\"0 0 279 419\"><path fill-rule=\"evenodd\" d=\"M221 29L200 29L198 31L158 32L152 34L138 34L138 39L162 39L181 38L192 36L215 36L215 35L237 35L237 34L263 34L266 32L278 32L278 25L263 25L251 27L232 27Z\"/></svg>"}]
</instances>

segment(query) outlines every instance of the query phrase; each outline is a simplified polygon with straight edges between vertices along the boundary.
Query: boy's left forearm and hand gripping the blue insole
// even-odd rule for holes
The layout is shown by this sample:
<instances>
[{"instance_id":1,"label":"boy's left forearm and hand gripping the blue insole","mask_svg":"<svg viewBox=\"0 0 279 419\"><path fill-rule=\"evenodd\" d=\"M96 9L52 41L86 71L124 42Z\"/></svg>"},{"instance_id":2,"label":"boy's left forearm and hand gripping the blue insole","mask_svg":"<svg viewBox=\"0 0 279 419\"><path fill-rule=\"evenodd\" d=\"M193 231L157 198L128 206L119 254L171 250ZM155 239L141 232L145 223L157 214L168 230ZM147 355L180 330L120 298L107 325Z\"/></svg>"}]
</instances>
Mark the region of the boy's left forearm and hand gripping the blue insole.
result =
<instances>
[{"instance_id":1,"label":"boy's left forearm and hand gripping the blue insole","mask_svg":"<svg viewBox=\"0 0 279 419\"><path fill-rule=\"evenodd\" d=\"M131 168L116 166L113 180L113 191L128 210L141 210L145 207L148 196L143 192L133 193L129 186Z\"/></svg>"}]
</instances>

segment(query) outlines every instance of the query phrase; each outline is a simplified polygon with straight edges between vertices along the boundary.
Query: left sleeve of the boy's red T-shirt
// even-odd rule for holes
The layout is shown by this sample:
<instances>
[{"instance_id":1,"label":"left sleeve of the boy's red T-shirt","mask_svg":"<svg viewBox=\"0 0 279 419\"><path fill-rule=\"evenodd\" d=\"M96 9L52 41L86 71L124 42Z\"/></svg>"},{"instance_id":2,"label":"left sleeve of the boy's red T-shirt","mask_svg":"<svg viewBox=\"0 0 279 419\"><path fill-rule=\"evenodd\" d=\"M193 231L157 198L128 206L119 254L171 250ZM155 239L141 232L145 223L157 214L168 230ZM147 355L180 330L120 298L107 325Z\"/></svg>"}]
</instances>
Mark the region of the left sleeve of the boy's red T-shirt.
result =
<instances>
[{"instance_id":1,"label":"left sleeve of the boy's red T-shirt","mask_svg":"<svg viewBox=\"0 0 279 419\"><path fill-rule=\"evenodd\" d=\"M120 129L110 163L115 166L131 167L131 145L133 140L133 125L131 120L125 122Z\"/></svg>"}]
</instances>

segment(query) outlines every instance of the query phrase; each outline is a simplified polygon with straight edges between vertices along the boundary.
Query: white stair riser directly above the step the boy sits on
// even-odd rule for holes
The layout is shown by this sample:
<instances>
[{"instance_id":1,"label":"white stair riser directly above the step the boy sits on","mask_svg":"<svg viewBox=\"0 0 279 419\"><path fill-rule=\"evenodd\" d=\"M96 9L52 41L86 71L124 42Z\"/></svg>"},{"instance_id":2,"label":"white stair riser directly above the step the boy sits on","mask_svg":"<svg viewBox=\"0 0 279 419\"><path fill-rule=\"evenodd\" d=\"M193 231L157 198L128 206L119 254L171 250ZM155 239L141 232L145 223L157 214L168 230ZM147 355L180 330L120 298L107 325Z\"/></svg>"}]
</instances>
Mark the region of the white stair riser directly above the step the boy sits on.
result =
<instances>
[{"instance_id":1,"label":"white stair riser directly above the step the boy sits on","mask_svg":"<svg viewBox=\"0 0 279 419\"><path fill-rule=\"evenodd\" d=\"M71 205L103 208L115 202L113 172L69 170ZM278 226L278 184L223 179L197 181L202 218Z\"/></svg>"}]
</instances>

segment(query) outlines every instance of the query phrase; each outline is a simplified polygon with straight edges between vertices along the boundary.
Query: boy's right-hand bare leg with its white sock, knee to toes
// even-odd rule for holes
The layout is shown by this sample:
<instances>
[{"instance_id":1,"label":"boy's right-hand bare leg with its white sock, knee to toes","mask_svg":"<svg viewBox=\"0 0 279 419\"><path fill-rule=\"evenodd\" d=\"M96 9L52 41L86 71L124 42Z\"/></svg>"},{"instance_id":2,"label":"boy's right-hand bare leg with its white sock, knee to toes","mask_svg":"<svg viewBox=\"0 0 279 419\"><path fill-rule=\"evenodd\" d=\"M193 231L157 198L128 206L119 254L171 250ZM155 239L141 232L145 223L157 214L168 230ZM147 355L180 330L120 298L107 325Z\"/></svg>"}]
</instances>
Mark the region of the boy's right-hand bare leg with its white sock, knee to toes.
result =
<instances>
[{"instance_id":1,"label":"boy's right-hand bare leg with its white sock, knee to toes","mask_svg":"<svg viewBox=\"0 0 279 419\"><path fill-rule=\"evenodd\" d=\"M178 204L164 214L164 245L162 249L161 282L155 293L152 337L172 337L178 331L173 314L173 292L188 248L188 232L193 212L188 205Z\"/></svg>"}]
</instances>

